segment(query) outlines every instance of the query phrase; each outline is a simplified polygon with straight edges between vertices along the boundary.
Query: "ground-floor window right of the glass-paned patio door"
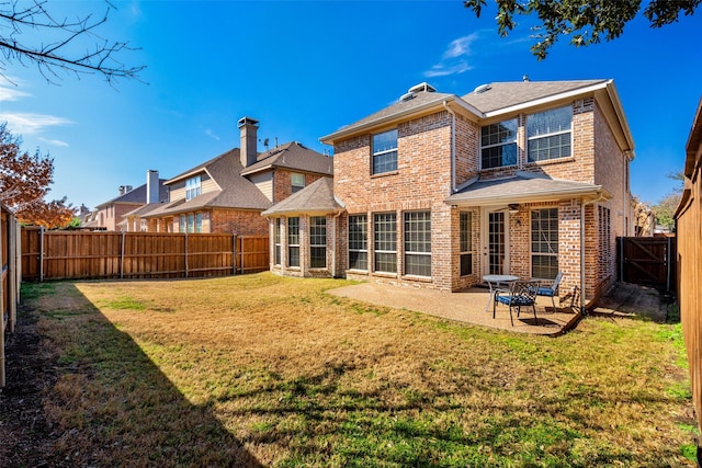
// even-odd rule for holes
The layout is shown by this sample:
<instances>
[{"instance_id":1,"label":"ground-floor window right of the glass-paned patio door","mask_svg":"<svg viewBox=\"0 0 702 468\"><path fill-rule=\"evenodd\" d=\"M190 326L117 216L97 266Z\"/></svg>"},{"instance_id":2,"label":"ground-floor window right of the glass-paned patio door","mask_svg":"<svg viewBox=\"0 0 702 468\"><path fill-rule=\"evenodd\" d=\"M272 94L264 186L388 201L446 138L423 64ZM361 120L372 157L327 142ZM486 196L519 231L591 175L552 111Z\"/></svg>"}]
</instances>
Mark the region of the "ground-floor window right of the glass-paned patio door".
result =
<instances>
[{"instance_id":1,"label":"ground-floor window right of the glass-paned patio door","mask_svg":"<svg viewBox=\"0 0 702 468\"><path fill-rule=\"evenodd\" d=\"M531 212L531 275L553 279L558 274L558 208Z\"/></svg>"}]
</instances>

